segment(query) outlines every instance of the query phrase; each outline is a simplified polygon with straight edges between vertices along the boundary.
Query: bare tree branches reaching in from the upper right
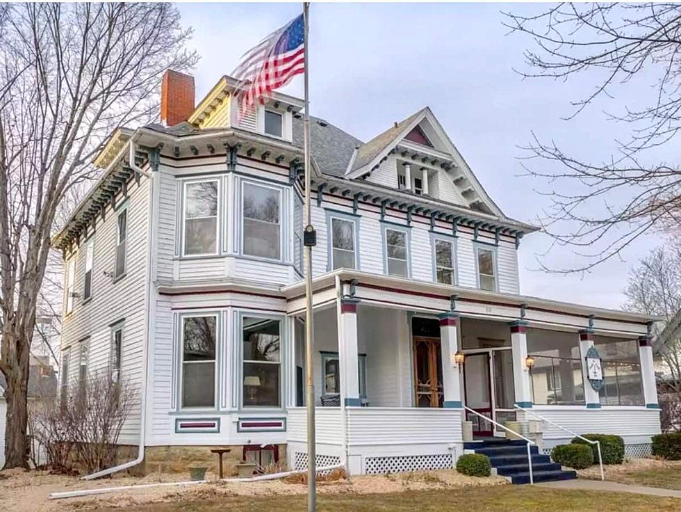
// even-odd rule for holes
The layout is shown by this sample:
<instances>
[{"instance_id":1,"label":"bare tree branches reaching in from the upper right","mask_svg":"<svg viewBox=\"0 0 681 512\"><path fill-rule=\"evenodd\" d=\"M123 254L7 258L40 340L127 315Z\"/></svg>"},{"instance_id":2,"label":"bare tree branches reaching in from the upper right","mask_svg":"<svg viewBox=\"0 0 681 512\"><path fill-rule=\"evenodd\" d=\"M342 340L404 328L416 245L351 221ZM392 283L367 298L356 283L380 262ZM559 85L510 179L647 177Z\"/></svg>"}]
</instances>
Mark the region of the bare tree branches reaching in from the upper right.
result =
<instances>
[{"instance_id":1,"label":"bare tree branches reaching in from the upper right","mask_svg":"<svg viewBox=\"0 0 681 512\"><path fill-rule=\"evenodd\" d=\"M505 24L534 42L525 51L523 77L568 81L586 75L594 81L590 93L573 101L571 118L597 99L616 97L623 83L652 79L643 106L608 113L613 122L631 125L630 138L618 142L608 161L585 161L537 136L525 148L528 159L541 160L541 166L525 161L525 168L551 187L545 191L552 199L545 231L584 256L571 269L547 270L585 271L643 234L678 229L681 173L650 150L673 141L681 129L681 5L560 3L532 16L507 13Z\"/></svg>"}]
</instances>

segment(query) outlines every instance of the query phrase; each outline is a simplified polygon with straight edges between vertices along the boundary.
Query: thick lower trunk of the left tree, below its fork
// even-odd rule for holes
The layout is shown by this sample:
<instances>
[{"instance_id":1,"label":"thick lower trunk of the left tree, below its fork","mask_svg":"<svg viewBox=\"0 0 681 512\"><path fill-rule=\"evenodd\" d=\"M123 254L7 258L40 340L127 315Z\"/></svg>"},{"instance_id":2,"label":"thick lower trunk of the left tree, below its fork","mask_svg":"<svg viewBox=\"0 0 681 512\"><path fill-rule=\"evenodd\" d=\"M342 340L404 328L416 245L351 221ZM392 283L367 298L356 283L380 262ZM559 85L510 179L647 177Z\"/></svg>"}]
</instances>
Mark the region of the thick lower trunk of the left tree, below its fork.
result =
<instances>
[{"instance_id":1,"label":"thick lower trunk of the left tree, below its fork","mask_svg":"<svg viewBox=\"0 0 681 512\"><path fill-rule=\"evenodd\" d=\"M19 367L7 380L7 424L5 426L5 465L28 469L28 358L19 358Z\"/></svg>"}]
</instances>

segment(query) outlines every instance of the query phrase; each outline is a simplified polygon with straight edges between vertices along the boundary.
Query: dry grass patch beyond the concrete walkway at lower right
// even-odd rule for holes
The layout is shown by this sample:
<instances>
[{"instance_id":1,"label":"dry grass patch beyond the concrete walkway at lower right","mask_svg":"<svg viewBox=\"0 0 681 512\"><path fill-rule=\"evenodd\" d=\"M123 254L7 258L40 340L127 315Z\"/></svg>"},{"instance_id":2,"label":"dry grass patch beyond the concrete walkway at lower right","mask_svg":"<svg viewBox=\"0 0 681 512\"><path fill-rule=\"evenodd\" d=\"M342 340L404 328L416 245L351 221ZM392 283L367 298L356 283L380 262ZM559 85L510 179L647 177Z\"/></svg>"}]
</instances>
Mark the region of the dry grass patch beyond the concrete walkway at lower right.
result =
<instances>
[{"instance_id":1,"label":"dry grass patch beyond the concrete walkway at lower right","mask_svg":"<svg viewBox=\"0 0 681 512\"><path fill-rule=\"evenodd\" d=\"M639 458L621 465L607 465L605 479L638 486L681 490L681 461ZM598 466L579 472L580 478L600 479Z\"/></svg>"}]
</instances>

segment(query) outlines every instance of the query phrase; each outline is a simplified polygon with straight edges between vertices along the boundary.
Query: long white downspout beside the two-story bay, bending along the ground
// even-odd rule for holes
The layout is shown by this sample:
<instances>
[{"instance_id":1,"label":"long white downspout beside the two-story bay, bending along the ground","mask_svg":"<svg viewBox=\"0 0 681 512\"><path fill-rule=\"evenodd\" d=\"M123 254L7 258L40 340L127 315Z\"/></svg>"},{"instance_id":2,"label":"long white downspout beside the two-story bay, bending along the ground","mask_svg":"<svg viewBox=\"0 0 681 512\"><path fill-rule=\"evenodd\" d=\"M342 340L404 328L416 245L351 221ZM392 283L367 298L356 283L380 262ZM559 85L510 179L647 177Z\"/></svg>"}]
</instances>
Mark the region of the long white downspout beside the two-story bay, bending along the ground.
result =
<instances>
[{"instance_id":1,"label":"long white downspout beside the two-story bay, bending along the ground","mask_svg":"<svg viewBox=\"0 0 681 512\"><path fill-rule=\"evenodd\" d=\"M149 338L151 326L151 290L153 282L151 279L151 255L154 253L152 245L154 245L154 209L156 207L155 195L154 195L154 175L157 173L147 173L147 171L142 170L135 163L135 140L138 138L139 133L134 134L129 141L130 152L129 152L129 166L136 173L149 178L149 234L147 236L147 282L145 283L146 294L145 294L145 310L147 317L147 334L145 339L145 344L142 346L142 351L144 353L143 358L145 360L144 374L142 376L142 397L140 402L140 445L138 447L137 458L133 461L126 462L114 467L108 467L106 470L101 470L92 474L85 475L81 480L93 480L99 477L105 477L107 474L113 474L120 471L129 469L130 467L140 464L145 459L145 435L147 426L147 378L149 376ZM155 310L155 308L154 308Z\"/></svg>"}]
</instances>

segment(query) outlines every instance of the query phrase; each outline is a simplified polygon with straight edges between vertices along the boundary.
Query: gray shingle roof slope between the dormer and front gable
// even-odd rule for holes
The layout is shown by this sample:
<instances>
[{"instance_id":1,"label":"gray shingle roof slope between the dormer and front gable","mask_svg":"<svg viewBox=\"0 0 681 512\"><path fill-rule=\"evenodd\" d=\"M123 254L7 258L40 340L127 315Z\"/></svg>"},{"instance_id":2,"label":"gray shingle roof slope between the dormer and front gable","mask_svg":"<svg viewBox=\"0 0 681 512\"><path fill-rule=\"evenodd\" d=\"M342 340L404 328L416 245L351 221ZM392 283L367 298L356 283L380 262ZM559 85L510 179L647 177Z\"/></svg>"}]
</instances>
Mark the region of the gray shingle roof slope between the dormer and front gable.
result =
<instances>
[{"instance_id":1,"label":"gray shingle roof slope between the dormer and front gable","mask_svg":"<svg viewBox=\"0 0 681 512\"><path fill-rule=\"evenodd\" d=\"M363 144L346 131L313 116L310 117L312 157L324 174L343 177L356 147ZM303 120L293 118L293 143L303 147Z\"/></svg>"}]
</instances>

